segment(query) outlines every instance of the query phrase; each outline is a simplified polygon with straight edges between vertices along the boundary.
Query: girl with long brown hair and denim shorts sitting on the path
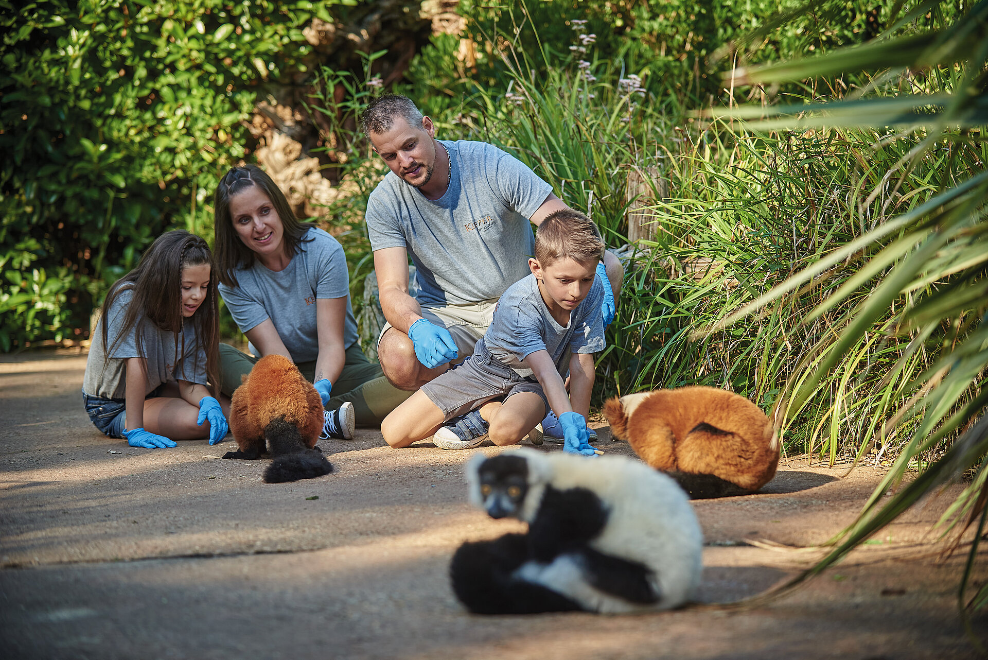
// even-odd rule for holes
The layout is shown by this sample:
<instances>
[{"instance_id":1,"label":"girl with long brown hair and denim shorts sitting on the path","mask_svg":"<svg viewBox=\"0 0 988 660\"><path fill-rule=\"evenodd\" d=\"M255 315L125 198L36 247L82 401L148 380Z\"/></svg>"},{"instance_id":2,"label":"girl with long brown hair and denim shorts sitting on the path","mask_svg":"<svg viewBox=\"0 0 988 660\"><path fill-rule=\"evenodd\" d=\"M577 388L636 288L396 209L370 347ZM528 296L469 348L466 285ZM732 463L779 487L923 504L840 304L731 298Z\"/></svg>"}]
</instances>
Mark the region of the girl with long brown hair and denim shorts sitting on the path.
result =
<instances>
[{"instance_id":1,"label":"girl with long brown hair and denim shorts sitting on the path","mask_svg":"<svg viewBox=\"0 0 988 660\"><path fill-rule=\"evenodd\" d=\"M89 419L130 447L226 435L218 380L216 275L209 247L177 229L160 236L110 292L86 360Z\"/></svg>"}]
</instances>

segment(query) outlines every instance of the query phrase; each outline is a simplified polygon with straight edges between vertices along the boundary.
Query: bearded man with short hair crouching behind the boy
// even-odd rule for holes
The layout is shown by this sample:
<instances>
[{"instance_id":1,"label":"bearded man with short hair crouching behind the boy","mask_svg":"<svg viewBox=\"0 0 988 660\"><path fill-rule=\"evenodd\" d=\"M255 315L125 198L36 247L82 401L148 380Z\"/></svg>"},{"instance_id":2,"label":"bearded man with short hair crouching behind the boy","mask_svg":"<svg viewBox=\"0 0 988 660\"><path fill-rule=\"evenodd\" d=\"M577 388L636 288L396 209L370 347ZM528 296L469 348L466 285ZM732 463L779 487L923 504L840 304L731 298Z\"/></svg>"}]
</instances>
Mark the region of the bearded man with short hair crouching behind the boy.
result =
<instances>
[{"instance_id":1,"label":"bearded man with short hair crouching behind the boy","mask_svg":"<svg viewBox=\"0 0 988 660\"><path fill-rule=\"evenodd\" d=\"M415 390L465 359L491 323L498 297L529 274L532 224L568 208L524 163L487 144L438 140L432 120L404 96L384 94L361 127L391 170L371 193L367 224L380 306L384 375ZM408 257L421 288L408 292ZM614 318L623 271L606 253Z\"/></svg>"}]
</instances>

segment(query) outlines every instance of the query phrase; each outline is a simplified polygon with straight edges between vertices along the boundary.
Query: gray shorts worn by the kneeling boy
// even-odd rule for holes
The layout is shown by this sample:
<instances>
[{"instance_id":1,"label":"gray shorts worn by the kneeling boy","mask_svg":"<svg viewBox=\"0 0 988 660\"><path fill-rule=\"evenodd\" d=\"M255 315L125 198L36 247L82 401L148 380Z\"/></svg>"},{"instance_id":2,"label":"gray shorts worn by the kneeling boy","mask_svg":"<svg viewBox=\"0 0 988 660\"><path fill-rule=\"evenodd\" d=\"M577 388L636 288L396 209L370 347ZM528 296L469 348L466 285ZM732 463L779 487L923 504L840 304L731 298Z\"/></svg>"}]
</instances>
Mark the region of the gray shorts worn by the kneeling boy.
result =
<instances>
[{"instance_id":1,"label":"gray shorts worn by the kneeling boy","mask_svg":"<svg viewBox=\"0 0 988 660\"><path fill-rule=\"evenodd\" d=\"M534 392L542 397L543 415L550 410L545 392L535 376L522 376L505 367L487 351L483 342L476 344L469 360L440 373L422 385L422 391L443 411L444 422L465 415L487 401L507 399L519 392Z\"/></svg>"}]
</instances>

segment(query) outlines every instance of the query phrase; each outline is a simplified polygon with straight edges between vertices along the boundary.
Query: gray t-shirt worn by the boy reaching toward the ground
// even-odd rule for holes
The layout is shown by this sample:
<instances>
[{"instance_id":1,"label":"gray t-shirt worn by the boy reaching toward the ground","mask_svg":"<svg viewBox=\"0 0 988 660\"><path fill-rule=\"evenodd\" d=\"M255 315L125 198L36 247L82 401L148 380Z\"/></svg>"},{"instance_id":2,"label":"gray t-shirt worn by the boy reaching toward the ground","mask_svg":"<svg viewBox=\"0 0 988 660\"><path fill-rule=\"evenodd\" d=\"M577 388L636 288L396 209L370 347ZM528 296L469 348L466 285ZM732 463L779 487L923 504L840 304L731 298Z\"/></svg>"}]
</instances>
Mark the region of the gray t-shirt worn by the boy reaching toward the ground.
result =
<instances>
[{"instance_id":1,"label":"gray t-shirt worn by the boy reaching toward the ground","mask_svg":"<svg viewBox=\"0 0 988 660\"><path fill-rule=\"evenodd\" d=\"M498 361L521 375L532 373L525 359L544 349L556 371L565 377L570 353L604 350L602 302L604 285L600 278L594 278L587 297L569 312L569 324L563 327L552 318L538 290L538 281L530 274L498 300L494 320L481 341Z\"/></svg>"}]
</instances>

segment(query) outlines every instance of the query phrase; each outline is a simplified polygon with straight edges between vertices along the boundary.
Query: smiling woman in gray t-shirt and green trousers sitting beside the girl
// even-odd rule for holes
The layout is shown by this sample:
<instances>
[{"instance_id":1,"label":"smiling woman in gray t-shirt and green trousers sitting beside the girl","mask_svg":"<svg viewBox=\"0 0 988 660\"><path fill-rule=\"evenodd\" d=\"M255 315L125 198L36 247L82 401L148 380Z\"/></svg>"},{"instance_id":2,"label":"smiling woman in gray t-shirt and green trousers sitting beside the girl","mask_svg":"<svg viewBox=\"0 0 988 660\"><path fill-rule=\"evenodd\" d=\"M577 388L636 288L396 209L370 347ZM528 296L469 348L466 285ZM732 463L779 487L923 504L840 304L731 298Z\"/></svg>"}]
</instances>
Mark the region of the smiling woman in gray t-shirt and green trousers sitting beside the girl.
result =
<instances>
[{"instance_id":1,"label":"smiling woman in gray t-shirt and green trousers sitting beside the girl","mask_svg":"<svg viewBox=\"0 0 988 660\"><path fill-rule=\"evenodd\" d=\"M277 353L319 391L323 437L349 440L356 425L379 425L411 393L391 385L361 350L340 243L299 222L256 165L226 173L213 209L219 292L257 356L220 345L221 391L232 394L260 357Z\"/></svg>"}]
</instances>

